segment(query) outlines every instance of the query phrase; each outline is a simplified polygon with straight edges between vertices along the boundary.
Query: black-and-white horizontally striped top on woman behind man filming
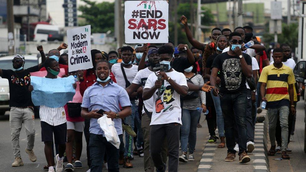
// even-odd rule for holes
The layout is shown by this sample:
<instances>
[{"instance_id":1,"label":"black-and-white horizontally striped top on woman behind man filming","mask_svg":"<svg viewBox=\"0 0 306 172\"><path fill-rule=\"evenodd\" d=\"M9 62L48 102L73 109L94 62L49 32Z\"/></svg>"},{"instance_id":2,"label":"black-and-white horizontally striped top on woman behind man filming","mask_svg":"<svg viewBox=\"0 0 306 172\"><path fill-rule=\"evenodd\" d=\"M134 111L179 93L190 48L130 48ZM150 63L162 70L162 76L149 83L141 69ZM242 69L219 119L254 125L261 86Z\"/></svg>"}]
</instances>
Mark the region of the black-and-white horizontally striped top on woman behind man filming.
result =
<instances>
[{"instance_id":1,"label":"black-and-white horizontally striped top on woman behind man filming","mask_svg":"<svg viewBox=\"0 0 306 172\"><path fill-rule=\"evenodd\" d=\"M204 84L203 77L196 74L191 81L195 85L202 86ZM199 91L199 97L191 100L184 100L183 109L196 110L197 107L201 107L201 103L206 105L206 93L204 91Z\"/></svg>"}]
</instances>

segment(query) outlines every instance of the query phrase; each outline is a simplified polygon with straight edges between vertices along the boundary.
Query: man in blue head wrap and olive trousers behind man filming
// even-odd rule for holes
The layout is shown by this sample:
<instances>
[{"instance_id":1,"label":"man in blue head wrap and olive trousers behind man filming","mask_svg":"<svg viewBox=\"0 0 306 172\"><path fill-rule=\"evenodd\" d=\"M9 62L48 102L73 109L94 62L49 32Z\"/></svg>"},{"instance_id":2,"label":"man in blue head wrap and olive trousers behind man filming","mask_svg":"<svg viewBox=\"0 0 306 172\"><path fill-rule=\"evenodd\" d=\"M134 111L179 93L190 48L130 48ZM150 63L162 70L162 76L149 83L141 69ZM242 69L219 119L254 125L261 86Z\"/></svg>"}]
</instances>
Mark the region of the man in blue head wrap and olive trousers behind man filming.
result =
<instances>
[{"instance_id":1,"label":"man in blue head wrap and olive trousers behind man filming","mask_svg":"<svg viewBox=\"0 0 306 172\"><path fill-rule=\"evenodd\" d=\"M128 88L126 88L126 91L128 92L129 95L131 95L139 88L143 89L145 87L145 82L147 81L148 77L150 76L150 74L154 73L153 68L156 66L156 64L159 64L159 55L156 48L152 48L148 52L144 50L143 52L144 54L148 55L148 61L150 66L145 69L139 70L137 72L132 84ZM144 106L142 109L142 117L141 117L141 128L144 136L144 148L142 149L140 145L141 147L140 149L140 147L137 145L138 153L141 153L142 150L142 154L144 154L144 170L150 172L154 171L154 164L150 156L150 123L153 112L153 102L154 102L153 96L150 99L144 101ZM167 162L166 143L167 143L166 139L164 139L161 151L164 163Z\"/></svg>"}]
</instances>

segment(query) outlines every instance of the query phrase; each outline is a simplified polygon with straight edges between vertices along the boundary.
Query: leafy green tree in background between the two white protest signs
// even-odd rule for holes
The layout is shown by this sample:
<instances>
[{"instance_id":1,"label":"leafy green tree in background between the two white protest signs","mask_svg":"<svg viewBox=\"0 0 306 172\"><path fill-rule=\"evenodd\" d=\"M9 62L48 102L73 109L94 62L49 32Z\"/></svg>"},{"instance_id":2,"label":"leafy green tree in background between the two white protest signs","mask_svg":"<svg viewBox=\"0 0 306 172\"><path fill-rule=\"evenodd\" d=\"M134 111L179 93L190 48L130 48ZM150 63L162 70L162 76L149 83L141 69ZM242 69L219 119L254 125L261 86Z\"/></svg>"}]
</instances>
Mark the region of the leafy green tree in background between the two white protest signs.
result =
<instances>
[{"instance_id":1,"label":"leafy green tree in background between the two white protest signs","mask_svg":"<svg viewBox=\"0 0 306 172\"><path fill-rule=\"evenodd\" d=\"M85 19L80 26L91 25L91 33L106 33L108 30L114 32L114 3L96 3L89 0L82 0L85 5L79 6L82 12L79 17Z\"/></svg>"}]
</instances>

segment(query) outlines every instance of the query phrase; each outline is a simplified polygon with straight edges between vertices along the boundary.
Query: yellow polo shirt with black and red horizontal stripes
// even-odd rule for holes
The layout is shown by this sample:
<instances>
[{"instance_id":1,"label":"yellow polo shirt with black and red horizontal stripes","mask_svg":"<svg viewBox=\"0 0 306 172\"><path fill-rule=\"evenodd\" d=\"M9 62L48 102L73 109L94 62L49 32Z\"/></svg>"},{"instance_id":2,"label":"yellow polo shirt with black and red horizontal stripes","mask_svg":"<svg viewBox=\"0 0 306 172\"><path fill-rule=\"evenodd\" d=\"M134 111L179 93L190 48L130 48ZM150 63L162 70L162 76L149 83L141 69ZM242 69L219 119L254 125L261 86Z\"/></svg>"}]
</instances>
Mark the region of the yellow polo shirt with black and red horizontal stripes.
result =
<instances>
[{"instance_id":1,"label":"yellow polo shirt with black and red horizontal stripes","mask_svg":"<svg viewBox=\"0 0 306 172\"><path fill-rule=\"evenodd\" d=\"M293 70L282 65L277 69L273 64L262 69L258 82L266 83L266 99L268 108L289 106L288 85L295 83Z\"/></svg>"}]
</instances>

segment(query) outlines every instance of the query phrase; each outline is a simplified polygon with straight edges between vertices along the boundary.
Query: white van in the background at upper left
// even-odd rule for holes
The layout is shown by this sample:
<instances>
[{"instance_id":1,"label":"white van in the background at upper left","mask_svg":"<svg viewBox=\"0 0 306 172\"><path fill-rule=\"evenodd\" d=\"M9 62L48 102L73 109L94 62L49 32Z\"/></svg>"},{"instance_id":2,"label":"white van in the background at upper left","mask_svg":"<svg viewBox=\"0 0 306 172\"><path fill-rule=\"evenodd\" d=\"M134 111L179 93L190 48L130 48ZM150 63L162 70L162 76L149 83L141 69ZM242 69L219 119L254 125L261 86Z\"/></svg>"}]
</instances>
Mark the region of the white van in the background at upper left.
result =
<instances>
[{"instance_id":1,"label":"white van in the background at upper left","mask_svg":"<svg viewBox=\"0 0 306 172\"><path fill-rule=\"evenodd\" d=\"M49 34L59 34L59 28L56 25L37 24L34 29L34 41L47 42Z\"/></svg>"}]
</instances>

